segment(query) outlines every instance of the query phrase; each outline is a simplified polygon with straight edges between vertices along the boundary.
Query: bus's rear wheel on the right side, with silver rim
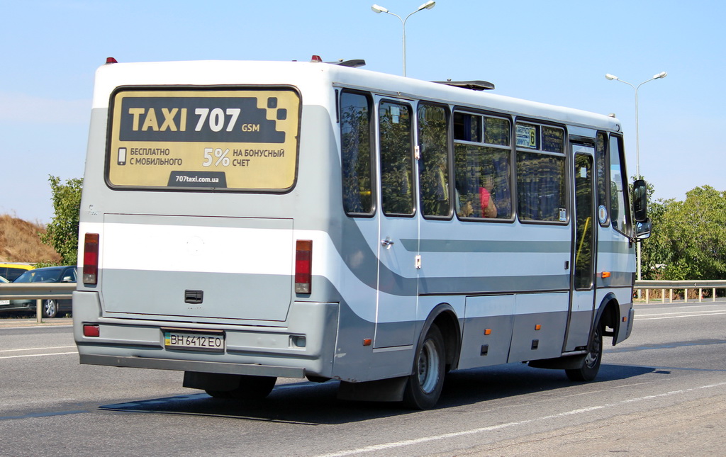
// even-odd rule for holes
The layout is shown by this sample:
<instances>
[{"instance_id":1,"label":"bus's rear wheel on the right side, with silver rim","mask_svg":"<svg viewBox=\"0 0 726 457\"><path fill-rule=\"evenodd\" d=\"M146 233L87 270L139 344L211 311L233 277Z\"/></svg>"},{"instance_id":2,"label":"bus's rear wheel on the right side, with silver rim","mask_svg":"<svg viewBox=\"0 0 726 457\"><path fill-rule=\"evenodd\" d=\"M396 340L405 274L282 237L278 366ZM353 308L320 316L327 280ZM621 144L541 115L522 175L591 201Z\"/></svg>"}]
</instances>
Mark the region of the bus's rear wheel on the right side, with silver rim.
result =
<instances>
[{"instance_id":1,"label":"bus's rear wheel on the right side, with silver rim","mask_svg":"<svg viewBox=\"0 0 726 457\"><path fill-rule=\"evenodd\" d=\"M412 374L404 390L404 404L409 408L428 409L436 405L444 387L446 358L444 337L432 325L416 350Z\"/></svg>"}]
</instances>

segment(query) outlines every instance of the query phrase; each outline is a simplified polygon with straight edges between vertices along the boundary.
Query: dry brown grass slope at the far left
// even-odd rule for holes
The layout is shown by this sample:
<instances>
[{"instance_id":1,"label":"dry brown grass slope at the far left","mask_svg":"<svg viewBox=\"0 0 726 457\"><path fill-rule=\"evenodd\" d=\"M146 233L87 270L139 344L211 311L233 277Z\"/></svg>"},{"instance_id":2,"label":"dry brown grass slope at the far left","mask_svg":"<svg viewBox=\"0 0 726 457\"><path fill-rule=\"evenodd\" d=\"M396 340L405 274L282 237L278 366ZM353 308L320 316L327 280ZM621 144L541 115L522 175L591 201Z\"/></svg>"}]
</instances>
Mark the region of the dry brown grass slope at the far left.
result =
<instances>
[{"instance_id":1,"label":"dry brown grass slope at the far left","mask_svg":"<svg viewBox=\"0 0 726 457\"><path fill-rule=\"evenodd\" d=\"M38 233L45 233L45 227L39 223L0 215L0 262L60 262L60 255L41 243Z\"/></svg>"}]
</instances>

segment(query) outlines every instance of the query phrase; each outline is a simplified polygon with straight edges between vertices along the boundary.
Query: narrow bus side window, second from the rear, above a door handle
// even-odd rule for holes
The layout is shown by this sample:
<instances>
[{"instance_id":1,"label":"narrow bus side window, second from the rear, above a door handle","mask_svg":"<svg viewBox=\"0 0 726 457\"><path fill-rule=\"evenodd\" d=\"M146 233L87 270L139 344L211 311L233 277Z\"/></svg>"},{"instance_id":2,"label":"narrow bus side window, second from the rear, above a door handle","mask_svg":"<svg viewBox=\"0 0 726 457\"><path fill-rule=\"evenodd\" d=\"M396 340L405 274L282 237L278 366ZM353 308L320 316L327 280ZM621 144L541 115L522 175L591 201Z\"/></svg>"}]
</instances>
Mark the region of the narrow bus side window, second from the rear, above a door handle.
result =
<instances>
[{"instance_id":1,"label":"narrow bus side window, second from the rear, above a door handle","mask_svg":"<svg viewBox=\"0 0 726 457\"><path fill-rule=\"evenodd\" d=\"M385 214L413 214L410 110L408 105L391 102L381 102L378 110L380 197Z\"/></svg>"}]
</instances>

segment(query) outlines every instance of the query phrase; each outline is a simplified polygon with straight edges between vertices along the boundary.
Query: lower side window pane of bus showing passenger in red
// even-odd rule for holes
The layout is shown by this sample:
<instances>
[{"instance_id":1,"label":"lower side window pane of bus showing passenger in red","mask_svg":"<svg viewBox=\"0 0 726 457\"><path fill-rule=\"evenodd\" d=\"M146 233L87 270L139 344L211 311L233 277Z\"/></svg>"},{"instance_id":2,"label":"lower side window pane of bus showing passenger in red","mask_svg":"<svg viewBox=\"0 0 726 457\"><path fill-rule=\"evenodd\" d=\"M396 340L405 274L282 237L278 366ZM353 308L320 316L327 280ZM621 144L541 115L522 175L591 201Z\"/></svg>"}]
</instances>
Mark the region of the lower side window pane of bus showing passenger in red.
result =
<instances>
[{"instance_id":1,"label":"lower side window pane of bus showing passenger in red","mask_svg":"<svg viewBox=\"0 0 726 457\"><path fill-rule=\"evenodd\" d=\"M458 215L471 218L512 217L509 149L455 144L454 167ZM489 200L496 207L494 212L492 207L486 209Z\"/></svg>"}]
</instances>

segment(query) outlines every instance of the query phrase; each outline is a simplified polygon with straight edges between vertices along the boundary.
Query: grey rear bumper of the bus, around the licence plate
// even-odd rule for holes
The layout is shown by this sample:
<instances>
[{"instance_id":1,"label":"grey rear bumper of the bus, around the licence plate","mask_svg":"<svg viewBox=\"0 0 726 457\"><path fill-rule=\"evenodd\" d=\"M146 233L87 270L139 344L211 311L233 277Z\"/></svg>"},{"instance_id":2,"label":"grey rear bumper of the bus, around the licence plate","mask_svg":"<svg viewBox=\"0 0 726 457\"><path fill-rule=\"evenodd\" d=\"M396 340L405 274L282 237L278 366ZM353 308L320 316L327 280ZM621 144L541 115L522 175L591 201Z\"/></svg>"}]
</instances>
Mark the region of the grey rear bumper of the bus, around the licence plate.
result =
<instances>
[{"instance_id":1,"label":"grey rear bumper of the bus, around the licence plate","mask_svg":"<svg viewBox=\"0 0 726 457\"><path fill-rule=\"evenodd\" d=\"M81 363L253 376L332 377L338 303L293 302L284 326L159 321L104 316L97 292L73 292L73 334ZM99 337L83 336L83 326ZM224 331L224 353L168 349L164 328Z\"/></svg>"}]
</instances>

